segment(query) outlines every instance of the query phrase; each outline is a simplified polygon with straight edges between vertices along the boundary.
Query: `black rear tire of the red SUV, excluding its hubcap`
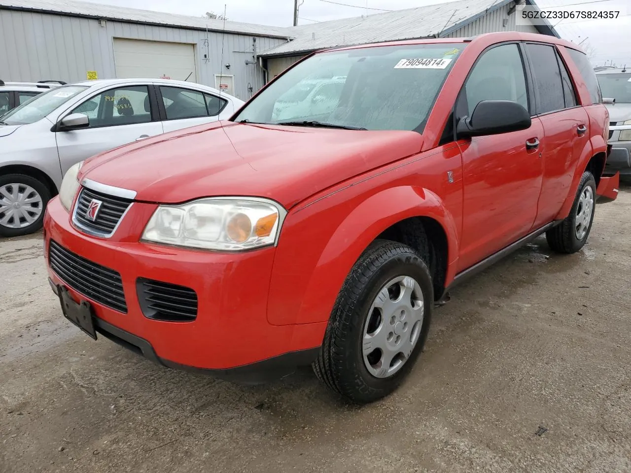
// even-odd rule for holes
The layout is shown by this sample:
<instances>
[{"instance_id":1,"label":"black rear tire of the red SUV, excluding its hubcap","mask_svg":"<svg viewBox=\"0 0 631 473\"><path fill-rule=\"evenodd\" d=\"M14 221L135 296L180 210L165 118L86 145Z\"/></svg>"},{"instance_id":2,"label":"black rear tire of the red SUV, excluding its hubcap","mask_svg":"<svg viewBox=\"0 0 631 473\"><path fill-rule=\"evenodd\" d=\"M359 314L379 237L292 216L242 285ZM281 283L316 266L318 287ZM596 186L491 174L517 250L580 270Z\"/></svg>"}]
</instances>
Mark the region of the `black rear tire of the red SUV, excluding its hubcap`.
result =
<instances>
[{"instance_id":1,"label":"black rear tire of the red SUV, excluding its hubcap","mask_svg":"<svg viewBox=\"0 0 631 473\"><path fill-rule=\"evenodd\" d=\"M579 212L579 207L582 206L581 196L584 192L586 192L586 188L591 188L591 196L593 200L591 216L589 218L589 225L586 226L587 231L584 233L582 238L577 236L577 213ZM548 245L552 250L558 253L571 254L579 251L583 245L587 242L587 238L589 237L589 232L591 231L591 226L594 221L594 210L596 209L596 180L591 172L586 171L583 173L581 177L581 182L579 184L579 190L576 192L576 196L574 197L574 204L572 205L572 209L570 210L569 216L563 220L560 225L551 228L546 231L546 240L548 240Z\"/></svg>"}]
</instances>

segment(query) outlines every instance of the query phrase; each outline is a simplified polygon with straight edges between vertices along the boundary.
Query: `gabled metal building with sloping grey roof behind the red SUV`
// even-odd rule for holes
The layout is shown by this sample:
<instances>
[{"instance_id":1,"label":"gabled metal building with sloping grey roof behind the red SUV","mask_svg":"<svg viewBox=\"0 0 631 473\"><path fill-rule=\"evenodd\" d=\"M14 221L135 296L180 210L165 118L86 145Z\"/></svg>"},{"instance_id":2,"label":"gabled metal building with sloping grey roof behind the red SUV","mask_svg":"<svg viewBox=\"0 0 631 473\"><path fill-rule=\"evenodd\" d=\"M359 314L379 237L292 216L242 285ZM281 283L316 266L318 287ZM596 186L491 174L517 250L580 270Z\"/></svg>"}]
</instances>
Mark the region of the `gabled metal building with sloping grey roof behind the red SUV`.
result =
<instances>
[{"instance_id":1,"label":"gabled metal building with sloping grey roof behind the red SUV","mask_svg":"<svg viewBox=\"0 0 631 473\"><path fill-rule=\"evenodd\" d=\"M264 50L269 78L315 50L413 38L468 38L481 33L521 31L559 37L548 25L517 25L518 5L534 0L460 0L419 8L286 28L290 42Z\"/></svg>"}]
</instances>

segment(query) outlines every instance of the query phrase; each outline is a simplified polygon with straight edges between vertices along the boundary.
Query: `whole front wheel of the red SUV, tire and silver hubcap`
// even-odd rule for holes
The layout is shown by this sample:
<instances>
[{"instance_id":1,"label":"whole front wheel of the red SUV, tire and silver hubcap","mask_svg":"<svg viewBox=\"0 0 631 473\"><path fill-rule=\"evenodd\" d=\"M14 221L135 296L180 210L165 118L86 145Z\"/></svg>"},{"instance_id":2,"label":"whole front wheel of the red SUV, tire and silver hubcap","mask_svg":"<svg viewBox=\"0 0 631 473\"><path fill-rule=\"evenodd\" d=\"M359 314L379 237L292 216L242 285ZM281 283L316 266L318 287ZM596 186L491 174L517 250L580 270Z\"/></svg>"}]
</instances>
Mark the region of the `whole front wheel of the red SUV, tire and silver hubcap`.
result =
<instances>
[{"instance_id":1,"label":"whole front wheel of the red SUV, tire and silver hubcap","mask_svg":"<svg viewBox=\"0 0 631 473\"><path fill-rule=\"evenodd\" d=\"M423 349L432 307L432 277L418 252L378 240L346 277L315 374L351 402L390 394Z\"/></svg>"}]
</instances>

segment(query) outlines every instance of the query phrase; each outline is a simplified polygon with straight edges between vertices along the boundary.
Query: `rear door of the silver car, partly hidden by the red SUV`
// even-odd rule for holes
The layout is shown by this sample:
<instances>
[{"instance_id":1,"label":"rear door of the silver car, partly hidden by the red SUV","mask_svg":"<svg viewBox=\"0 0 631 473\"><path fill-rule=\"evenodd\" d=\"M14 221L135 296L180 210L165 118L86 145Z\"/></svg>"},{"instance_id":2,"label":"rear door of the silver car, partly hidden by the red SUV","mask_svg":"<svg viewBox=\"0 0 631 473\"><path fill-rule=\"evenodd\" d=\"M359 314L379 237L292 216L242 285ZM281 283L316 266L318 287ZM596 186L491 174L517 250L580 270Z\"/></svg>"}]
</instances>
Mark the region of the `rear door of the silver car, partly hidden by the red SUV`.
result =
<instances>
[{"instance_id":1,"label":"rear door of the silver car, partly hidden by the red SUV","mask_svg":"<svg viewBox=\"0 0 631 473\"><path fill-rule=\"evenodd\" d=\"M165 132L215 122L229 106L226 98L199 90L156 86Z\"/></svg>"}]
</instances>

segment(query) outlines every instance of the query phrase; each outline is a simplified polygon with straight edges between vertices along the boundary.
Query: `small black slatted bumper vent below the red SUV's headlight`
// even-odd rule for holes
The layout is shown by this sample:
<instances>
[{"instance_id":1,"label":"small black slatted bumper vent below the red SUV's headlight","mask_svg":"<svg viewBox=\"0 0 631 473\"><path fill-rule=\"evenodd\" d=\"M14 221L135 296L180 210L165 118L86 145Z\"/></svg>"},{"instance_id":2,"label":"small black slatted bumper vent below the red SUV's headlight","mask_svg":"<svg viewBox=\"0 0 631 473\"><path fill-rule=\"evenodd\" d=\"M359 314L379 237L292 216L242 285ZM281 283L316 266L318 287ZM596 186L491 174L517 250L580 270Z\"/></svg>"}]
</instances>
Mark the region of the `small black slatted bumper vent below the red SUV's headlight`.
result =
<instances>
[{"instance_id":1,"label":"small black slatted bumper vent below the red SUV's headlight","mask_svg":"<svg viewBox=\"0 0 631 473\"><path fill-rule=\"evenodd\" d=\"M198 312L193 289L153 279L138 278L138 301L144 316L165 322L191 322Z\"/></svg>"}]
</instances>

